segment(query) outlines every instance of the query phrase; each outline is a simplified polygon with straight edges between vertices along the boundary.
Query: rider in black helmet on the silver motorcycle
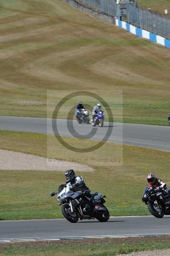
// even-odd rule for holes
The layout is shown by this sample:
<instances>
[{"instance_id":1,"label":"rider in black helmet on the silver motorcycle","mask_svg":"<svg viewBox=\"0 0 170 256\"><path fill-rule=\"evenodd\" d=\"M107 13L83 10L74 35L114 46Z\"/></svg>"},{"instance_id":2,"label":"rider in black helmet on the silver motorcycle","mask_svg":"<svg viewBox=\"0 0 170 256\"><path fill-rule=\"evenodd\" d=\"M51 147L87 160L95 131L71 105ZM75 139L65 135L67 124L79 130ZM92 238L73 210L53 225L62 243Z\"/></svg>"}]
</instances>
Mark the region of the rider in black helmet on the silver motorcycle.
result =
<instances>
[{"instance_id":1,"label":"rider in black helmet on the silver motorcycle","mask_svg":"<svg viewBox=\"0 0 170 256\"><path fill-rule=\"evenodd\" d=\"M75 176L75 172L72 169L67 170L65 172L65 176L66 176L66 183L70 182L71 185L74 186L70 190L72 190L73 192L77 192L77 191L84 192L84 194L83 194L84 197L86 197L89 200L89 202L92 203L95 210L98 210L100 208L98 205L95 204L95 201L92 198L91 191L86 186L82 176L79 176L79 175ZM87 209L88 209L88 205L86 204L86 207L83 210L87 211Z\"/></svg>"}]
</instances>

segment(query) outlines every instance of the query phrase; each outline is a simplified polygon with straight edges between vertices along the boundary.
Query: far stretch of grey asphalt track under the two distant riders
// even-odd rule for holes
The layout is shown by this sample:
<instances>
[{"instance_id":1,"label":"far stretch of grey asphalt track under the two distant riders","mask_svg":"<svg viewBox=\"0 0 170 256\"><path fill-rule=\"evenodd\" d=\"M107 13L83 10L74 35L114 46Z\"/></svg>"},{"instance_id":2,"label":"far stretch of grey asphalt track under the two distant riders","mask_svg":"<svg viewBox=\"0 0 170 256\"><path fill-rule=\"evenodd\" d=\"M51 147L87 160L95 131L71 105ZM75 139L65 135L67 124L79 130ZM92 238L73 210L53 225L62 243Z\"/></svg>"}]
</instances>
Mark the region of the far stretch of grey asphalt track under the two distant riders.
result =
<instances>
[{"instance_id":1,"label":"far stretch of grey asphalt track under the two distant riders","mask_svg":"<svg viewBox=\"0 0 170 256\"><path fill-rule=\"evenodd\" d=\"M55 134L68 137L85 137L92 131L92 125L78 124L76 120L57 119L58 131ZM70 131L71 134L70 134ZM54 134L52 119L35 117L0 116L0 129L11 131L26 131L40 134ZM95 129L95 128L93 128ZM157 125L135 125L104 122L104 127L96 128L93 140L102 140L108 129L112 129L109 142L126 145L137 145L145 148L155 148L170 151L170 127Z\"/></svg>"}]
</instances>

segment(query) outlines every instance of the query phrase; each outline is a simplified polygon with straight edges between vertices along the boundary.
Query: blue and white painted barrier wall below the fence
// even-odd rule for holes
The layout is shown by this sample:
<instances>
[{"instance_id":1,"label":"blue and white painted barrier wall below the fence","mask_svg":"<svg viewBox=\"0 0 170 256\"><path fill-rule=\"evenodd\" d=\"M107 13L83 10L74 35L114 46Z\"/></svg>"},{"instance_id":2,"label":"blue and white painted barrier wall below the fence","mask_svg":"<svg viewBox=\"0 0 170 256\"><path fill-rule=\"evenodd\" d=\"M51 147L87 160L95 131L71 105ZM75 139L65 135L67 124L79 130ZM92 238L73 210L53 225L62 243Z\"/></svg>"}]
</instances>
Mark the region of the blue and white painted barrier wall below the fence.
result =
<instances>
[{"instance_id":1,"label":"blue and white painted barrier wall below the fence","mask_svg":"<svg viewBox=\"0 0 170 256\"><path fill-rule=\"evenodd\" d=\"M139 29L133 25L130 25L129 23L127 23L125 21L122 21L122 20L116 19L115 22L116 22L116 26L118 26L122 29L125 29L134 35L137 35L140 38L146 38L146 39L149 39L151 42L161 44L167 48L170 48L170 40L168 40L160 35L153 34L144 29Z\"/></svg>"}]
</instances>

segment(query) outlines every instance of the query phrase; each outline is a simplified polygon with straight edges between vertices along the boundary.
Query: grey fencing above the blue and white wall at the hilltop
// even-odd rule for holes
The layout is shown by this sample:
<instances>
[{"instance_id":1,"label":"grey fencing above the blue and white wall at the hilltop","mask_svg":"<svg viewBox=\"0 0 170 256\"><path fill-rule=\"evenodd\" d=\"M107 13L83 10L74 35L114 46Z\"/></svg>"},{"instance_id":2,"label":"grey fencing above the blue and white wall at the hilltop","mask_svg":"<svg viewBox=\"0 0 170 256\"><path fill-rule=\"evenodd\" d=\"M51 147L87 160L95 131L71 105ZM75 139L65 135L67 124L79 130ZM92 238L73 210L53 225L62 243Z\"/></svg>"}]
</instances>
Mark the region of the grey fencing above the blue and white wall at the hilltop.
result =
<instances>
[{"instance_id":1,"label":"grey fencing above the blue and white wall at the hilltop","mask_svg":"<svg viewBox=\"0 0 170 256\"><path fill-rule=\"evenodd\" d=\"M76 2L112 17L115 17L117 13L115 0L76 0ZM128 23L170 39L170 18L151 12L149 9L138 8L132 3L127 3L126 7Z\"/></svg>"}]
</instances>

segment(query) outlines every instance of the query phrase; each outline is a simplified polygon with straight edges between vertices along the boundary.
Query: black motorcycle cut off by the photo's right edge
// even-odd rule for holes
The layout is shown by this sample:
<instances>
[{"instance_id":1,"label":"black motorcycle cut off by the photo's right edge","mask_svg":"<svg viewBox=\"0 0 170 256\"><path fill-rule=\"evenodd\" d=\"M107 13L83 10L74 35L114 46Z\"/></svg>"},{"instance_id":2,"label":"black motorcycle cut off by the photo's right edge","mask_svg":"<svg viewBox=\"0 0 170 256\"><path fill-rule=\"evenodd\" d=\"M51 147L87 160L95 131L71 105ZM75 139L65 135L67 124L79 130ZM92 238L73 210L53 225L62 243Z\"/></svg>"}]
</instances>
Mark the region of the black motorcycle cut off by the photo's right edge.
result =
<instances>
[{"instance_id":1,"label":"black motorcycle cut off by the photo's right edge","mask_svg":"<svg viewBox=\"0 0 170 256\"><path fill-rule=\"evenodd\" d=\"M164 189L145 188L142 201L156 218L163 218L164 215L170 215L170 196Z\"/></svg>"}]
</instances>

